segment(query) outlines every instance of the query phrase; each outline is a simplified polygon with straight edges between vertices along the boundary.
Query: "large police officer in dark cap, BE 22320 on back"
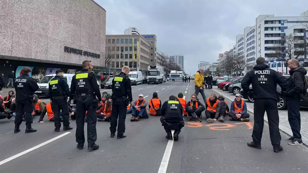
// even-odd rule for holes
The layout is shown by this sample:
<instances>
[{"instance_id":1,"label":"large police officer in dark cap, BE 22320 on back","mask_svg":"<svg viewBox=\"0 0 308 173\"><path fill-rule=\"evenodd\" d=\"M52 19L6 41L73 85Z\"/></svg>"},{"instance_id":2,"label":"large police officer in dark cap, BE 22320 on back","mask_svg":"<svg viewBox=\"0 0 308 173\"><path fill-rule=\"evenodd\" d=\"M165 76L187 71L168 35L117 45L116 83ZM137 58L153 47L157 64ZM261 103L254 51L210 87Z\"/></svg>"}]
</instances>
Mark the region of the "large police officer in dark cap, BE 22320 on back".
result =
<instances>
[{"instance_id":1,"label":"large police officer in dark cap, BE 22320 on back","mask_svg":"<svg viewBox=\"0 0 308 173\"><path fill-rule=\"evenodd\" d=\"M261 149L261 138L264 125L264 113L266 111L270 127L270 139L274 152L282 151L280 146L281 136L279 132L279 115L277 102L279 95L277 93L277 84L281 86L282 91L286 91L288 82L285 77L277 71L270 69L266 65L265 58L259 57L256 60L257 65L249 71L241 81L243 88L242 95L253 95L254 98L254 124L252 139L253 142L247 143L249 147ZM250 93L249 85L252 84L253 92Z\"/></svg>"}]
</instances>

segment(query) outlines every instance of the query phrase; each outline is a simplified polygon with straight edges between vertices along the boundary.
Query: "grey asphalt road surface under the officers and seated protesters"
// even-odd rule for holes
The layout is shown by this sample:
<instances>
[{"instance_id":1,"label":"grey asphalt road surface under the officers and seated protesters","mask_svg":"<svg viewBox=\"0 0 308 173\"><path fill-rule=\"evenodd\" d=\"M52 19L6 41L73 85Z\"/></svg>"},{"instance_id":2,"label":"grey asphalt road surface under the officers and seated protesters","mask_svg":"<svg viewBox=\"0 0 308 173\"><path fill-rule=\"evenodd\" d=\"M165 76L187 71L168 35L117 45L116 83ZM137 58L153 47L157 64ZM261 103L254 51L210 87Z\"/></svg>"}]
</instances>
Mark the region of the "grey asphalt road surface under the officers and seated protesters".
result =
<instances>
[{"instance_id":1,"label":"grey asphalt road surface under the officers and seated protesters","mask_svg":"<svg viewBox=\"0 0 308 173\"><path fill-rule=\"evenodd\" d=\"M110 89L105 89L107 92ZM104 89L102 91L105 91ZM166 82L159 85L143 84L133 86L133 96L138 98L143 94L146 100L152 98L152 93L158 91L163 101L170 95L182 92L188 101L194 93L194 83L191 81ZM186 91L186 93L185 93ZM111 91L110 91L111 92ZM214 92L205 90L207 97ZM216 93L217 94L217 93ZM199 94L199 97L201 95ZM226 100L228 105L231 104ZM203 103L201 99L201 103ZM306 173L308 170L308 149L305 146L290 146L282 140L284 151L274 153L270 144L267 124L263 131L262 149L247 146L250 142L253 116L250 123L229 121L225 123L206 123L202 114L202 123L186 122L179 141L172 146L168 162L168 173ZM164 157L168 140L159 117L149 117L138 122L130 122L131 115L126 119L127 138L110 138L107 122L97 122L97 151L78 150L75 142L75 121L70 121L74 130L71 133L55 139L46 145L33 147L53 139L63 131L55 132L54 124L46 121L43 124L34 119L33 127L36 133L25 134L24 123L22 132L14 134L12 120L0 121L0 172L33 173L33 172L63 172L63 173L156 173ZM45 120L47 117L45 117ZM186 119L185 119L186 121ZM240 124L237 124L240 123ZM86 130L85 130L86 132ZM287 135L281 134L282 139ZM85 143L87 147L87 143ZM20 154L28 149L31 151ZM18 157L4 161L11 156ZM6 163L3 163L6 162ZM3 164L1 164L3 163Z\"/></svg>"}]
</instances>

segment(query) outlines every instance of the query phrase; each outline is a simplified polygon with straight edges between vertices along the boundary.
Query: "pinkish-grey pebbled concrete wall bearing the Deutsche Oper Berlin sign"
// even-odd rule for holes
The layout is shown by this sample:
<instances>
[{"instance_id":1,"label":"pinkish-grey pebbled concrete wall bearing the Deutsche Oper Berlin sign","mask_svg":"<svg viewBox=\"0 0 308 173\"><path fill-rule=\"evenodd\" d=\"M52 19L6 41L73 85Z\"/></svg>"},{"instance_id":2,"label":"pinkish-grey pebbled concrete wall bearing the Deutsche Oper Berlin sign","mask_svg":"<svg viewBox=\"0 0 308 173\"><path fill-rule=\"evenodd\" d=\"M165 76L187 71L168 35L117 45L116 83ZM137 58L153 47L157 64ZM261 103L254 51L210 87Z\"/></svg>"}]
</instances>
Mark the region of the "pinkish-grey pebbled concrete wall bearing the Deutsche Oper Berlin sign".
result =
<instances>
[{"instance_id":1,"label":"pinkish-grey pebbled concrete wall bearing the Deutsche Oper Berlin sign","mask_svg":"<svg viewBox=\"0 0 308 173\"><path fill-rule=\"evenodd\" d=\"M92 0L1 1L0 58L80 65L105 57L106 11ZM64 46L100 58L64 52Z\"/></svg>"}]
</instances>

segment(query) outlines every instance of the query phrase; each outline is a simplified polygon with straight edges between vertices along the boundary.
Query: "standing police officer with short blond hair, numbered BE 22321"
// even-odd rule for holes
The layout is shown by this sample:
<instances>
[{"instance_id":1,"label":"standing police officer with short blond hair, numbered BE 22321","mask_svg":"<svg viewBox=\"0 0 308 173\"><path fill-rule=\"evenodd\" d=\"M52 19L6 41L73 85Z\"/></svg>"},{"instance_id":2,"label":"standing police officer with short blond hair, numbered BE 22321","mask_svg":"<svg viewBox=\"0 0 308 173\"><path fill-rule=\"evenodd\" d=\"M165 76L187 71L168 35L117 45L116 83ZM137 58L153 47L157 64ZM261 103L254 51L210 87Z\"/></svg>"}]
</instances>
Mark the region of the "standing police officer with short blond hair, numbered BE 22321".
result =
<instances>
[{"instance_id":1,"label":"standing police officer with short blond hair, numbered BE 22321","mask_svg":"<svg viewBox=\"0 0 308 173\"><path fill-rule=\"evenodd\" d=\"M128 77L130 68L128 66L122 67L122 72L115 76L112 80L112 111L111 111L111 122L110 122L110 137L115 137L115 131L118 123L118 134L117 139L125 138L125 118L126 118L126 107L129 102L132 105L132 86L131 80Z\"/></svg>"}]
</instances>

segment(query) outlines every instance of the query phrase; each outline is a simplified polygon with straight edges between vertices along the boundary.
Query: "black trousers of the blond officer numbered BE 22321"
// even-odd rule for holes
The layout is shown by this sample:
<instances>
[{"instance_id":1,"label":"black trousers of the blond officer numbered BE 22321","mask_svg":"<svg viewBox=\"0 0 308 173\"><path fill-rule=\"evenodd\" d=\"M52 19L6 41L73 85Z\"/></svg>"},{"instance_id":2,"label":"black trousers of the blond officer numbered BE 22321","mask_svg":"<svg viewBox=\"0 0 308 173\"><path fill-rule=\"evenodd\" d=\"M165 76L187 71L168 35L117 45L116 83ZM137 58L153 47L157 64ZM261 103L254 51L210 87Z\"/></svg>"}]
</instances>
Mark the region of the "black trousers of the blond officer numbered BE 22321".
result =
<instances>
[{"instance_id":1,"label":"black trousers of the blond officer numbered BE 22321","mask_svg":"<svg viewBox=\"0 0 308 173\"><path fill-rule=\"evenodd\" d=\"M110 132L115 133L118 125L118 136L125 133L126 107L123 99L112 99ZM119 117L119 123L117 122Z\"/></svg>"}]
</instances>

